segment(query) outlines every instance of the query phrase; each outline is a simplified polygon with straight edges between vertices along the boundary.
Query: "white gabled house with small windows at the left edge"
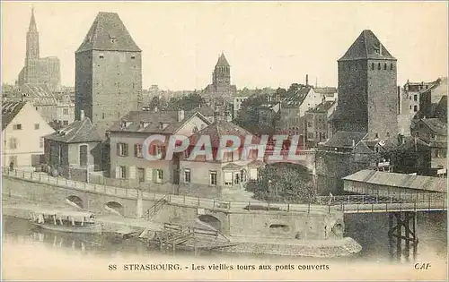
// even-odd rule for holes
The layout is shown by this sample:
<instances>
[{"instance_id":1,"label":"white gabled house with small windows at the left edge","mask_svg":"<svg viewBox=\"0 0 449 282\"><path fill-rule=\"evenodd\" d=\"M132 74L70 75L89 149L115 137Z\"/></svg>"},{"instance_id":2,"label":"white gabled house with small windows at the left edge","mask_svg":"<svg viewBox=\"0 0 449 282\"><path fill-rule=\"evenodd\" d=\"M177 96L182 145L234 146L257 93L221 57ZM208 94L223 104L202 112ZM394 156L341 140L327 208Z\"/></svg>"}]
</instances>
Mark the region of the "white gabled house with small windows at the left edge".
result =
<instances>
[{"instance_id":1,"label":"white gabled house with small windows at the left edge","mask_svg":"<svg viewBox=\"0 0 449 282\"><path fill-rule=\"evenodd\" d=\"M2 167L34 169L44 154L43 136L54 132L30 102L2 103Z\"/></svg>"}]
</instances>

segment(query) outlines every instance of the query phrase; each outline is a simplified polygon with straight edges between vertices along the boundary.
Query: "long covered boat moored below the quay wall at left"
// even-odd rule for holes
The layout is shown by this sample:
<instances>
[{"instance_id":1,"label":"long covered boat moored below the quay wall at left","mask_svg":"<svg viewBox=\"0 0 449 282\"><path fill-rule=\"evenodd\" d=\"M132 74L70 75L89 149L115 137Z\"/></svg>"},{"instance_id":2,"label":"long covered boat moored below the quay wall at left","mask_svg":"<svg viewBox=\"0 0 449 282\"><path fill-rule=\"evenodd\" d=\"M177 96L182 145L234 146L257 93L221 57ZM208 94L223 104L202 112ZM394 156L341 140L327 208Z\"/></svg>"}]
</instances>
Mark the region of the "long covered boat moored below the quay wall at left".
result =
<instances>
[{"instance_id":1,"label":"long covered boat moored below the quay wall at left","mask_svg":"<svg viewBox=\"0 0 449 282\"><path fill-rule=\"evenodd\" d=\"M78 210L40 209L30 212L31 224L40 228L84 234L102 232L101 223L95 222L92 212Z\"/></svg>"}]
</instances>

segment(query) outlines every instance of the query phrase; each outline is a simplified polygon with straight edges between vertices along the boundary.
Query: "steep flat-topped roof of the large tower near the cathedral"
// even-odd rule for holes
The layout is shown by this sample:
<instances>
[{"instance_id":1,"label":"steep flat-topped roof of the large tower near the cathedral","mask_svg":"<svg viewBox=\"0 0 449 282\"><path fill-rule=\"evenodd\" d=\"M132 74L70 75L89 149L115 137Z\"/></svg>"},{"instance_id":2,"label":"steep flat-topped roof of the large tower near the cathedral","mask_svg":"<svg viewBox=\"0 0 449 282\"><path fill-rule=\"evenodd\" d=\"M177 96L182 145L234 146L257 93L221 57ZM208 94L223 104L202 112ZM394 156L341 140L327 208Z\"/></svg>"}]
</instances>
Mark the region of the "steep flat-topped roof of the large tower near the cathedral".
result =
<instances>
[{"instance_id":1,"label":"steep flat-topped roof of the large tower near the cathedral","mask_svg":"<svg viewBox=\"0 0 449 282\"><path fill-rule=\"evenodd\" d=\"M119 18L118 13L100 12L93 21L83 43L76 50L129 51L141 52L127 28Z\"/></svg>"}]
</instances>

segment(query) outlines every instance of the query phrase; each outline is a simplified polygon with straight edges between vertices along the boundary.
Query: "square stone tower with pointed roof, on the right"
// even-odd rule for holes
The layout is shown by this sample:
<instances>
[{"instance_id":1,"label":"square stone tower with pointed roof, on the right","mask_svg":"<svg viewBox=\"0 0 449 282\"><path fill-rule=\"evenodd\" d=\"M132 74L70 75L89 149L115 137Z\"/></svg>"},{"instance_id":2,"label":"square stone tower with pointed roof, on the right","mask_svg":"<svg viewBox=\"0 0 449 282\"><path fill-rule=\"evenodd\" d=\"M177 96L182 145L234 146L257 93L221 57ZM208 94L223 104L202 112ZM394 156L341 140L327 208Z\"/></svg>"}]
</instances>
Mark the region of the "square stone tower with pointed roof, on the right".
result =
<instances>
[{"instance_id":1,"label":"square stone tower with pointed roof, on the right","mask_svg":"<svg viewBox=\"0 0 449 282\"><path fill-rule=\"evenodd\" d=\"M397 60L364 30L339 61L335 132L367 132L383 139L398 132Z\"/></svg>"}]
</instances>

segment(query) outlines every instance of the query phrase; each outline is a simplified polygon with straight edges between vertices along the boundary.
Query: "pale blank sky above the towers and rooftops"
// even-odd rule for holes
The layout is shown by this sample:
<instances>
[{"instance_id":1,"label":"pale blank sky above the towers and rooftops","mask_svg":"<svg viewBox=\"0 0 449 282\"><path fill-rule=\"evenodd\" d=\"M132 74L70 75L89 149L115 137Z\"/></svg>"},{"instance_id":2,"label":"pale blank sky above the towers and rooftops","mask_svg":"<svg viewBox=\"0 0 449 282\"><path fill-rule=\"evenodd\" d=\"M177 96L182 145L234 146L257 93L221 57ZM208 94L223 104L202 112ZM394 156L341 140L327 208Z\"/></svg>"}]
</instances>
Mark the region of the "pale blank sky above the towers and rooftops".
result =
<instances>
[{"instance_id":1,"label":"pale blank sky above the towers and rooftops","mask_svg":"<svg viewBox=\"0 0 449 282\"><path fill-rule=\"evenodd\" d=\"M119 13L143 50L143 87L203 89L218 56L238 89L309 82L338 86L337 60L362 30L398 59L398 84L447 76L446 1L440 2L19 2L2 1L2 81L25 58L34 7L40 56L57 56L75 85L75 50L98 12Z\"/></svg>"}]
</instances>

